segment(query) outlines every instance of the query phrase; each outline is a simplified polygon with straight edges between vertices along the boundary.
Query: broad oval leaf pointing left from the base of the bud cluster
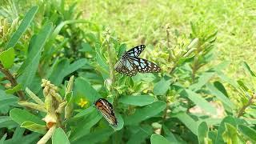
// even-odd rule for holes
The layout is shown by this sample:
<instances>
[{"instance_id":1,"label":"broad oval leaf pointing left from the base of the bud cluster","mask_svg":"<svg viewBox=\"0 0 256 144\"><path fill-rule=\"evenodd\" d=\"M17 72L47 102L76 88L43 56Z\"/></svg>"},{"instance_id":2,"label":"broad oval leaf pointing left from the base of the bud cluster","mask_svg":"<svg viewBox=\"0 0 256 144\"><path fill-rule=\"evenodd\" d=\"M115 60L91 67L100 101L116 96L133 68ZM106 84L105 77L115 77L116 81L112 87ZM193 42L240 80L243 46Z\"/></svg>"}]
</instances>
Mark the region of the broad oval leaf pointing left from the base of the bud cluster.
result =
<instances>
[{"instance_id":1,"label":"broad oval leaf pointing left from the base of the bud cluster","mask_svg":"<svg viewBox=\"0 0 256 144\"><path fill-rule=\"evenodd\" d=\"M22 123L26 121L45 125L45 122L42 121L42 118L38 118L34 114L30 114L26 110L21 110L17 108L10 110L10 118L17 122L19 125L22 125Z\"/></svg>"}]
</instances>

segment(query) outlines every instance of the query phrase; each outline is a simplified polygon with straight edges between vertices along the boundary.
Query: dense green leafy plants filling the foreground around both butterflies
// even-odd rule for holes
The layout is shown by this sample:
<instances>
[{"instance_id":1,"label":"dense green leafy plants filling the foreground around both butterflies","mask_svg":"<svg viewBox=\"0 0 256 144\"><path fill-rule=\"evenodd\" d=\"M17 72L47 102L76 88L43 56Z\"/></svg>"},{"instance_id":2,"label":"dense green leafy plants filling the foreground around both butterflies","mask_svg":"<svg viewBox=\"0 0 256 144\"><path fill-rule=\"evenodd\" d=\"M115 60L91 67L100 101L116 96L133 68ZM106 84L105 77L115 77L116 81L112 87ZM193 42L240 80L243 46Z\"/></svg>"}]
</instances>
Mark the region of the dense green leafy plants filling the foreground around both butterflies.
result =
<instances>
[{"instance_id":1,"label":"dense green leafy plants filling the foreground around both butterflies","mask_svg":"<svg viewBox=\"0 0 256 144\"><path fill-rule=\"evenodd\" d=\"M256 74L242 62L250 82L234 80L229 62L214 62L214 23L190 22L190 34L166 24L166 42L141 56L162 72L130 78L114 70L128 46L113 27L82 19L77 3L38 3L0 23L1 142L256 141ZM94 108L98 98L113 103L118 126Z\"/></svg>"}]
</instances>

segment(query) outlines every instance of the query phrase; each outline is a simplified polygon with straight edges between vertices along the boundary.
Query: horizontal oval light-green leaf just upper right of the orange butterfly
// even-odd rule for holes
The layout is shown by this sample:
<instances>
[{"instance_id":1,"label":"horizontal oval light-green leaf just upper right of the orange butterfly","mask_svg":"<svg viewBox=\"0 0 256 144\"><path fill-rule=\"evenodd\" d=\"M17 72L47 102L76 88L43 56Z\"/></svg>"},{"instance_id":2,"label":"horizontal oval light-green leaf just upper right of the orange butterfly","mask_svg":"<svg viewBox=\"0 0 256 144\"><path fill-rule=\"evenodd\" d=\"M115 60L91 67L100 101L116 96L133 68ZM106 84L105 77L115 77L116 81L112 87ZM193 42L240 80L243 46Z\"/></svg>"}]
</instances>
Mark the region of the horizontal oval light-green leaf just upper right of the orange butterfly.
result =
<instances>
[{"instance_id":1,"label":"horizontal oval light-green leaf just upper right of the orange butterfly","mask_svg":"<svg viewBox=\"0 0 256 144\"><path fill-rule=\"evenodd\" d=\"M125 103L127 105L146 106L154 102L154 97L150 95L126 95L121 96L121 98L119 98L118 101Z\"/></svg>"}]
</instances>

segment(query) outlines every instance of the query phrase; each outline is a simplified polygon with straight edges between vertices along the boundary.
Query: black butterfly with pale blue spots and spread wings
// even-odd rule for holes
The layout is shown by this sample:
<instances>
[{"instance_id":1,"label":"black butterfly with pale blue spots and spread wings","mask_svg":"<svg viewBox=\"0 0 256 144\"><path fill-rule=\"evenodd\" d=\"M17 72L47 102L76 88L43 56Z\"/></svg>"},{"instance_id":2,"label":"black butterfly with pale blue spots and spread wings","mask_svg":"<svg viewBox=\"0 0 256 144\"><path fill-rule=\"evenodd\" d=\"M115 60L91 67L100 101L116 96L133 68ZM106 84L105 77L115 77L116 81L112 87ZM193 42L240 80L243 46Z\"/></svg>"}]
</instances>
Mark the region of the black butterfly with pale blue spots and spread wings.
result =
<instances>
[{"instance_id":1,"label":"black butterfly with pale blue spots and spread wings","mask_svg":"<svg viewBox=\"0 0 256 144\"><path fill-rule=\"evenodd\" d=\"M126 74L127 76L134 76L139 73L157 73L161 69L154 64L138 56L145 49L145 45L135 46L134 48L122 54L121 59L114 65L114 69L118 73Z\"/></svg>"}]
</instances>

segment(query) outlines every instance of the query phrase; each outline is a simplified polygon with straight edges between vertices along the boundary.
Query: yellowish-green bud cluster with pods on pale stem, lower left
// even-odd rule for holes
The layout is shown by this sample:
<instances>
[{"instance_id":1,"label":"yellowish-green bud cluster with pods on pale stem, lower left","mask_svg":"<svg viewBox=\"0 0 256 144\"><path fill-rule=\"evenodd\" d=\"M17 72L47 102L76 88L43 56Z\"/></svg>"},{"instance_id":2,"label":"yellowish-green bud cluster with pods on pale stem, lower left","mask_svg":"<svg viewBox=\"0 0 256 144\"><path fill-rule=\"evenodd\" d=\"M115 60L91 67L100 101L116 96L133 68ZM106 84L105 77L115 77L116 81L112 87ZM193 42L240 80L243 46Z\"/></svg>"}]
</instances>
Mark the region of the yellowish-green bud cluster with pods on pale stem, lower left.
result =
<instances>
[{"instance_id":1,"label":"yellowish-green bud cluster with pods on pale stem, lower left","mask_svg":"<svg viewBox=\"0 0 256 144\"><path fill-rule=\"evenodd\" d=\"M68 95L72 96L72 89L74 83L74 76L70 78L68 85L66 86L65 97L62 98L58 94L58 87L51 84L50 81L42 79L43 95L45 101L43 102L36 94L26 88L26 93L34 100L34 102L19 102L19 105L26 106L34 110L39 110L46 113L45 118L42 118L46 122L48 129L47 133L38 141L38 143L46 143L54 133L54 130L58 127L62 127L61 114L65 111L65 118L70 118L72 115L73 106L70 102L71 98L67 98Z\"/></svg>"}]
</instances>

